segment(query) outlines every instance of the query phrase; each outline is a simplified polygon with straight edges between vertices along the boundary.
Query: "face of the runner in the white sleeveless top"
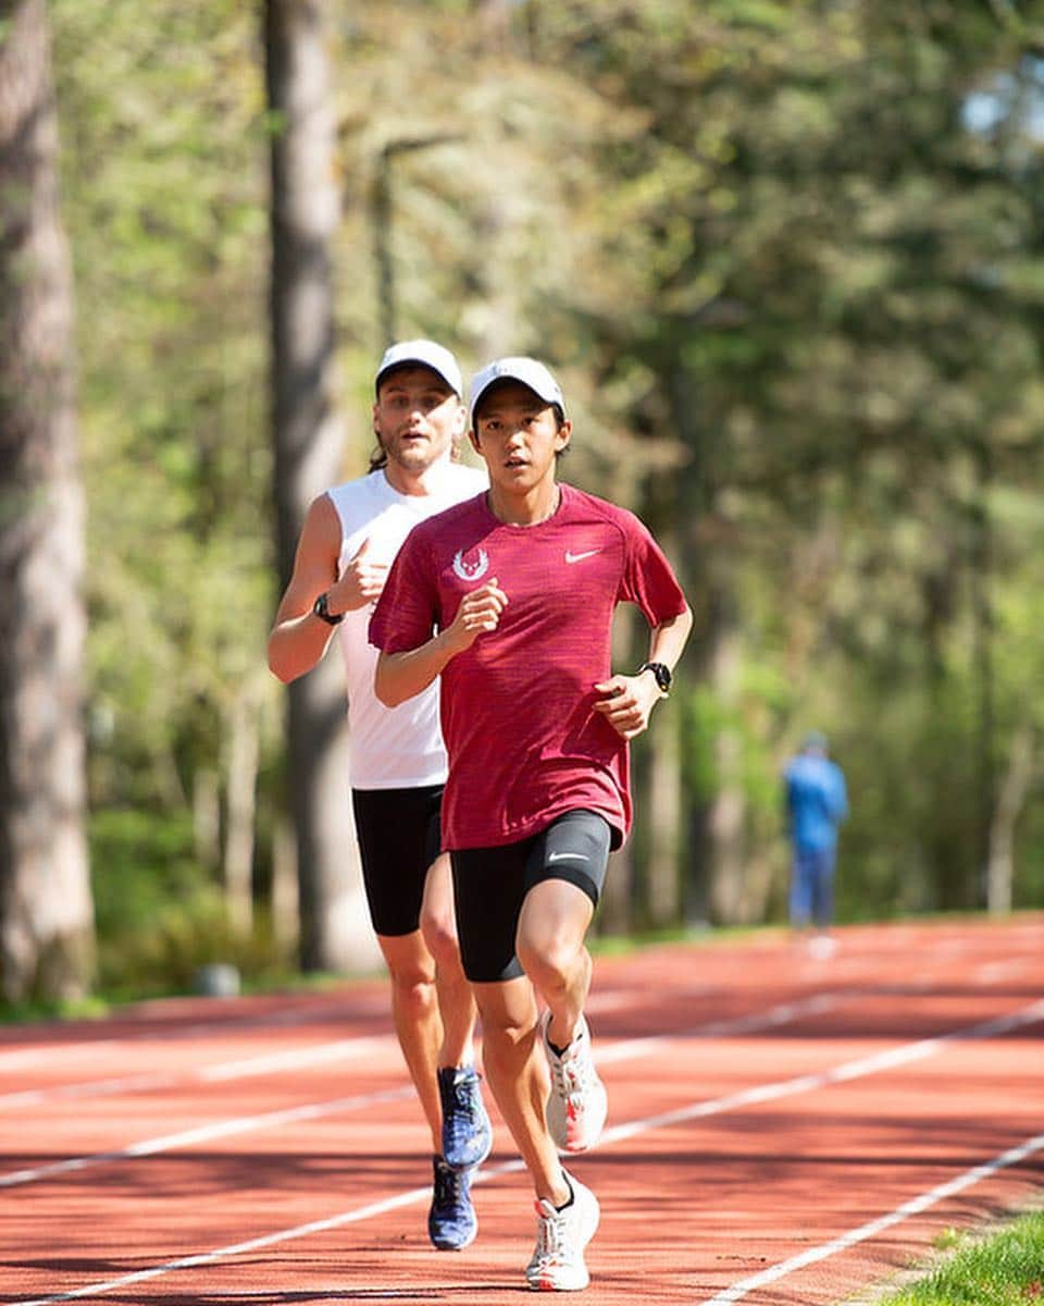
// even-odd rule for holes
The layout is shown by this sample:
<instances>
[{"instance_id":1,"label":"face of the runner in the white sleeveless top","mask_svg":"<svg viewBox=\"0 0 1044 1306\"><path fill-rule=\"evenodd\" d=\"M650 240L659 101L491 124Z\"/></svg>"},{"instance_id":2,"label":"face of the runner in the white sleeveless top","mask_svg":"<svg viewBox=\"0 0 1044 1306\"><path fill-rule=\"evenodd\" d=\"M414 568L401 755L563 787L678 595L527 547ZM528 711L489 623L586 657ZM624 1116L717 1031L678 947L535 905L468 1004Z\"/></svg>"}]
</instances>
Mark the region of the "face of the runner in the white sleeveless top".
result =
<instances>
[{"instance_id":1,"label":"face of the runner in the white sleeveless top","mask_svg":"<svg viewBox=\"0 0 1044 1306\"><path fill-rule=\"evenodd\" d=\"M406 471L424 471L448 458L463 434L466 409L429 367L402 367L381 383L373 430L388 454Z\"/></svg>"}]
</instances>

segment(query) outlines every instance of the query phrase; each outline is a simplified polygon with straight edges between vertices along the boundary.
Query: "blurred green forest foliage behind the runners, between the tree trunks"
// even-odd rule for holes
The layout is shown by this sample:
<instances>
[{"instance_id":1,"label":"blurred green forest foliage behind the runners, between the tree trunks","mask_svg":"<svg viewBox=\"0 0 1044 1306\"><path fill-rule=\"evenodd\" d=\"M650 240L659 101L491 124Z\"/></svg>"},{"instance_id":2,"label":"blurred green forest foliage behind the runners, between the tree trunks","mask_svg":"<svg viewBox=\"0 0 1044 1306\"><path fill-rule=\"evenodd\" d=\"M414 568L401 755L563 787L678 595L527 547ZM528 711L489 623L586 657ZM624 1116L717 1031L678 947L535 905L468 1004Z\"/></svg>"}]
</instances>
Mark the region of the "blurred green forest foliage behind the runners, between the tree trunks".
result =
<instances>
[{"instance_id":1,"label":"blurred green forest foliage behind the runners, between the tree trunks","mask_svg":"<svg viewBox=\"0 0 1044 1306\"><path fill-rule=\"evenodd\" d=\"M223 790L244 697L261 734L258 884L281 808L264 667L278 124L254 7L55 0L51 14L103 965L117 977L123 955L180 982L239 947L191 811L201 776ZM501 27L466 14L393 0L337 16L346 470L364 465L389 321L466 367L547 357L577 424L565 474L671 539L697 614L671 703L686 829L729 789L748 859L782 867L779 774L814 725L852 791L839 914L975 905L983 823L1028 726L1015 902L1040 904L1031 16L957 0L529 0Z\"/></svg>"}]
</instances>

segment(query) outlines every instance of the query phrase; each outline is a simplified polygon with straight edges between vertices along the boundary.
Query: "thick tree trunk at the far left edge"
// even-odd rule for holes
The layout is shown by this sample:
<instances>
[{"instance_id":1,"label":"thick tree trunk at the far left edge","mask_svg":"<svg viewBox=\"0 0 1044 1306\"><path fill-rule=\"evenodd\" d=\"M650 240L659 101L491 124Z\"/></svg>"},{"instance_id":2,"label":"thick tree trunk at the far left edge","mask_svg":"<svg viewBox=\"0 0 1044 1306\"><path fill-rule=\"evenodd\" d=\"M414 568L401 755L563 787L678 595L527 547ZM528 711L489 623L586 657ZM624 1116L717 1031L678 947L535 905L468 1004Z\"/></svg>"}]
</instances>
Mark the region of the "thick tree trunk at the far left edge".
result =
<instances>
[{"instance_id":1,"label":"thick tree trunk at the far left edge","mask_svg":"<svg viewBox=\"0 0 1044 1306\"><path fill-rule=\"evenodd\" d=\"M84 500L73 287L43 0L0 0L0 960L8 1000L86 991Z\"/></svg>"}]
</instances>

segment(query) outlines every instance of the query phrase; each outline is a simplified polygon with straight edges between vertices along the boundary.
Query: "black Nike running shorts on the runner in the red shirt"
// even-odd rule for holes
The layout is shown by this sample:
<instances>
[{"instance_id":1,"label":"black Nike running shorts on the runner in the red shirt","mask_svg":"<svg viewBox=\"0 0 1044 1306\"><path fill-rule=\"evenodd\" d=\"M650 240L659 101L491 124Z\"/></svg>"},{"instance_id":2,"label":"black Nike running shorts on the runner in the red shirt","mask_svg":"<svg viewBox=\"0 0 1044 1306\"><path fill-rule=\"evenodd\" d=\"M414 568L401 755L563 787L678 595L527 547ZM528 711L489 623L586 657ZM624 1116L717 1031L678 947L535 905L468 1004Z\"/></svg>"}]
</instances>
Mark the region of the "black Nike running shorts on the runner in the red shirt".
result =
<instances>
[{"instance_id":1,"label":"black Nike running shorts on the runner in the red shirt","mask_svg":"<svg viewBox=\"0 0 1044 1306\"><path fill-rule=\"evenodd\" d=\"M568 880L598 906L611 837L604 816L572 811L518 844L450 853L461 960L472 983L522 974L514 940L522 901L534 884Z\"/></svg>"}]
</instances>

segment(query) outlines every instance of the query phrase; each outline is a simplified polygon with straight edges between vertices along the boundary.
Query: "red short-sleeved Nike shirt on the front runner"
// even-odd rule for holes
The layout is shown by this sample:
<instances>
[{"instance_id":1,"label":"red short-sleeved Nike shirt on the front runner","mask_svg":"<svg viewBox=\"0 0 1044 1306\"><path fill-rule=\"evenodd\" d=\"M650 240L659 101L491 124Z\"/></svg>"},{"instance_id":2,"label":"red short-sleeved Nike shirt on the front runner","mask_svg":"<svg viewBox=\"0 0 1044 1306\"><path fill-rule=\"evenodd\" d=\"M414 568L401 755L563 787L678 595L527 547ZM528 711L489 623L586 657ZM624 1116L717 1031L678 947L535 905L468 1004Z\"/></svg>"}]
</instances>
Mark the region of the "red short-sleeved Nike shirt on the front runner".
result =
<instances>
[{"instance_id":1,"label":"red short-sleeved Nike shirt on the front runner","mask_svg":"<svg viewBox=\"0 0 1044 1306\"><path fill-rule=\"evenodd\" d=\"M508 596L500 626L441 674L442 846L514 844L578 807L602 814L621 842L630 828L628 744L592 709L594 686L612 674L617 603L637 603L650 626L685 611L671 565L633 513L572 486L535 526L499 521L482 494L410 532L371 619L371 644L419 648L492 579Z\"/></svg>"}]
</instances>

